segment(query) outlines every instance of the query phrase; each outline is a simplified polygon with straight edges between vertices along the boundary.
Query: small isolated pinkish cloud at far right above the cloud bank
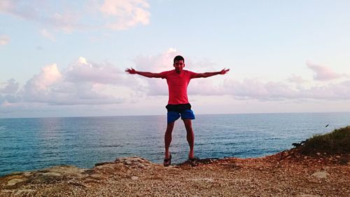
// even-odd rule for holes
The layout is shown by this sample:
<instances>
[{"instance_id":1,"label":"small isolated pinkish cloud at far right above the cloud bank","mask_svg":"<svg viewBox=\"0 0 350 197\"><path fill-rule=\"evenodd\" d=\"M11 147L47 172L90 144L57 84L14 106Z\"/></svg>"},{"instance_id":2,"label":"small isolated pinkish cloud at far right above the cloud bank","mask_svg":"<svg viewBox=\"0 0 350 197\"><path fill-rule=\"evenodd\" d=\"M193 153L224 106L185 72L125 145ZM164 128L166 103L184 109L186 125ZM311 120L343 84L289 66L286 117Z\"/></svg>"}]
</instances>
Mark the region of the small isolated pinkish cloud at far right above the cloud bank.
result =
<instances>
[{"instance_id":1,"label":"small isolated pinkish cloud at far right above the cloud bank","mask_svg":"<svg viewBox=\"0 0 350 197\"><path fill-rule=\"evenodd\" d=\"M339 74L334 72L329 67L321 66L307 61L307 67L315 72L314 79L318 81L330 81L332 79L339 79L347 76L346 74Z\"/></svg>"}]
</instances>

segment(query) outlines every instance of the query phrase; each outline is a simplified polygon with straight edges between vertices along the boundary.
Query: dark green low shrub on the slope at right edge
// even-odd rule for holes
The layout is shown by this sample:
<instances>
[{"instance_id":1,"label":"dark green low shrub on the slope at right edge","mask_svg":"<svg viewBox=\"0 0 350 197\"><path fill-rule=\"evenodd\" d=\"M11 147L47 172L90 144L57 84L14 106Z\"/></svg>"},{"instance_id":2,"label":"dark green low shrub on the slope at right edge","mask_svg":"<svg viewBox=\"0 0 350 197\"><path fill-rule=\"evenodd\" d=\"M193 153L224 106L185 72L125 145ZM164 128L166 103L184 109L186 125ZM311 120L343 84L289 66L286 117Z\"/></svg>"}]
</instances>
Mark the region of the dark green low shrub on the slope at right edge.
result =
<instances>
[{"instance_id":1,"label":"dark green low shrub on the slope at right edge","mask_svg":"<svg viewBox=\"0 0 350 197\"><path fill-rule=\"evenodd\" d=\"M296 143L293 145L295 146ZM299 146L302 154L349 154L350 153L350 125L335 129L330 133L323 135L314 135L308 140L303 141Z\"/></svg>"}]
</instances>

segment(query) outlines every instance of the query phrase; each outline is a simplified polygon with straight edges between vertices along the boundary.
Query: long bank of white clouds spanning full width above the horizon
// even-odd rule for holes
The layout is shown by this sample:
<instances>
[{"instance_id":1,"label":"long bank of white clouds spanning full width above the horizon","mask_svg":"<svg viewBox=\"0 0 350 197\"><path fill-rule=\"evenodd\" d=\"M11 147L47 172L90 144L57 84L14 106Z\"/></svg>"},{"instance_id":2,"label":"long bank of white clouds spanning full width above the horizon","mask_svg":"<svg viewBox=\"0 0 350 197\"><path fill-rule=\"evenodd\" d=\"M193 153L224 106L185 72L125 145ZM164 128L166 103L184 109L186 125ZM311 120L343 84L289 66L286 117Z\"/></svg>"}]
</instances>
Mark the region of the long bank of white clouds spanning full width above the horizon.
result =
<instances>
[{"instance_id":1,"label":"long bank of white clouds spanning full width above the horizon","mask_svg":"<svg viewBox=\"0 0 350 197\"><path fill-rule=\"evenodd\" d=\"M171 49L160 55L136 57L134 62L140 71L162 72L174 69L172 62L176 55L179 53ZM195 69L195 72L202 72L202 67L211 68L212 65L210 61L199 62L190 57L186 58L187 69ZM0 106L3 108L0 110L1 113L10 113L12 109L20 111L20 109L26 109L27 105L34 106L33 104L43 109L45 105L51 106L48 109L57 109L52 106L82 105L116 107L121 106L118 105L120 103L123 103L124 107L131 103L142 106L145 100L163 102L167 100L168 95L165 79L148 79L126 74L108 62L90 62L85 57L79 57L76 62L64 69L59 69L56 64L49 64L29 79L25 86L22 88L18 86L14 79L1 83ZM238 81L235 80L234 73L229 72L224 76L213 76L209 79L193 79L188 91L191 102L193 101L191 98L206 100L211 96L223 97L223 95L236 101L303 104L315 101L341 102L350 100L350 81L319 83L304 80L297 75L292 75L285 81L264 79ZM143 100L142 104L139 100ZM29 108L27 111L30 111Z\"/></svg>"}]
</instances>

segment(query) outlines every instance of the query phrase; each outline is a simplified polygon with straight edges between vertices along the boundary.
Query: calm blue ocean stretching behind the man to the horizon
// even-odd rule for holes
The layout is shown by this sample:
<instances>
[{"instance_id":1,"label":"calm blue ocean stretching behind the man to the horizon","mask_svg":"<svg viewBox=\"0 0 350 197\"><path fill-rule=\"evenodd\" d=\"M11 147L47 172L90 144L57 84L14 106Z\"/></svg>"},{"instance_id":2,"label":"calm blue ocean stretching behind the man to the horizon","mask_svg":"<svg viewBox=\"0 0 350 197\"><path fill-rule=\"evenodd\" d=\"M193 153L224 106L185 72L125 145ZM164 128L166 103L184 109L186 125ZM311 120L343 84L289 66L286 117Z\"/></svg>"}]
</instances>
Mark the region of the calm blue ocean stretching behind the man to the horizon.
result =
<instances>
[{"instance_id":1,"label":"calm blue ocean stretching behind the man to the horizon","mask_svg":"<svg viewBox=\"0 0 350 197\"><path fill-rule=\"evenodd\" d=\"M162 163L166 121L166 116L2 118L0 175L53 165L92 168L125 156ZM350 125L347 112L197 115L195 156L267 156L346 125ZM183 122L176 121L172 163L186 161L188 149Z\"/></svg>"}]
</instances>

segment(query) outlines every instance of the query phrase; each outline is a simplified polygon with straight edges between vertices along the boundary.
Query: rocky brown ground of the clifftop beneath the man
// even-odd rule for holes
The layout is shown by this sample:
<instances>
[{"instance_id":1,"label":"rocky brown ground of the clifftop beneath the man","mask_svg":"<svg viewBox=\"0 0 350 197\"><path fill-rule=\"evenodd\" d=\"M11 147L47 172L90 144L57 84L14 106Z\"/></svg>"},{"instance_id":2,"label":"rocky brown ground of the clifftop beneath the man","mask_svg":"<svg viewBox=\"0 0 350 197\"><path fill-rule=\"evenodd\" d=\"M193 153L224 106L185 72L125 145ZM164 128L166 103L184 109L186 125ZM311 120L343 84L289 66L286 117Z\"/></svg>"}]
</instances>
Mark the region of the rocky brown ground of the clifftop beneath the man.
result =
<instances>
[{"instance_id":1,"label":"rocky brown ground of the clifftop beneath the man","mask_svg":"<svg viewBox=\"0 0 350 197\"><path fill-rule=\"evenodd\" d=\"M349 154L202 159L167 168L117 158L0 177L0 196L350 196Z\"/></svg>"}]
</instances>

